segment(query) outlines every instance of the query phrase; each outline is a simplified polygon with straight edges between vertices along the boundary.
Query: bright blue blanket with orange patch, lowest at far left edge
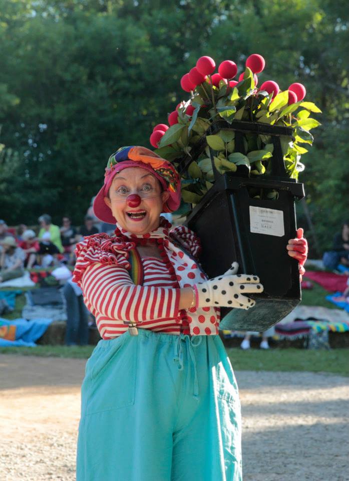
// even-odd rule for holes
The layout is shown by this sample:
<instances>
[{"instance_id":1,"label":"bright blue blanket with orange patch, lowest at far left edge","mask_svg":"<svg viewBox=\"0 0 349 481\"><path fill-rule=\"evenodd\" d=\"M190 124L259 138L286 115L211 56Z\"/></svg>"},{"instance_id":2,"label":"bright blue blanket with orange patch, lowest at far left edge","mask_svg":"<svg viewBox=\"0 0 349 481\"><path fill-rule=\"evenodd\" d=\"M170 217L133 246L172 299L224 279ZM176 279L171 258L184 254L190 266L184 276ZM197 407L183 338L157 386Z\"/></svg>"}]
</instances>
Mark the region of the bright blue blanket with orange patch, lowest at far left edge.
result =
<instances>
[{"instance_id":1,"label":"bright blue blanket with orange patch, lowest at far left edge","mask_svg":"<svg viewBox=\"0 0 349 481\"><path fill-rule=\"evenodd\" d=\"M52 319L15 319L8 321L0 318L0 347L36 346L37 341L52 323Z\"/></svg>"}]
</instances>

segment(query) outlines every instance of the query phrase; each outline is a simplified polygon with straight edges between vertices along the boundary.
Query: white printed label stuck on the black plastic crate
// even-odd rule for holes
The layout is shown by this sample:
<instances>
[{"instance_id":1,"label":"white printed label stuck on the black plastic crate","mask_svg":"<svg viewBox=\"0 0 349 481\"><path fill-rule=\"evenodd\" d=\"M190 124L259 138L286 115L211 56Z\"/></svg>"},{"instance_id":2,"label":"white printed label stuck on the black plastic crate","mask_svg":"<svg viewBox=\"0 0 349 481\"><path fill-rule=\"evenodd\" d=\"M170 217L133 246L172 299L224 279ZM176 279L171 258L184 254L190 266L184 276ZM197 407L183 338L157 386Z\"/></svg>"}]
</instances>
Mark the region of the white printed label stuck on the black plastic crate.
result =
<instances>
[{"instance_id":1,"label":"white printed label stuck on the black plastic crate","mask_svg":"<svg viewBox=\"0 0 349 481\"><path fill-rule=\"evenodd\" d=\"M257 234L285 235L283 211L250 205L250 230Z\"/></svg>"}]
</instances>

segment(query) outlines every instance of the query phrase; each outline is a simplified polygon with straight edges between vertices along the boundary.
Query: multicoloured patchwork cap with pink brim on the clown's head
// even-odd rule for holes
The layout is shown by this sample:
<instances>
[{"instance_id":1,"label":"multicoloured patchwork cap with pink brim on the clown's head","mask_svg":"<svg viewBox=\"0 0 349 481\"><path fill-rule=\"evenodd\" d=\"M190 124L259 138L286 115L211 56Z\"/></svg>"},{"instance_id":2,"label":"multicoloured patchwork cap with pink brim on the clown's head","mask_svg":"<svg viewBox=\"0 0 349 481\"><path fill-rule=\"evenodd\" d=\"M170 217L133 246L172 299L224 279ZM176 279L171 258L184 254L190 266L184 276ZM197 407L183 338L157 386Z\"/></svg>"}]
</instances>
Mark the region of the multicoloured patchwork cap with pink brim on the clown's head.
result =
<instances>
[{"instance_id":1,"label":"multicoloured patchwork cap with pink brim on the clown's head","mask_svg":"<svg viewBox=\"0 0 349 481\"><path fill-rule=\"evenodd\" d=\"M114 175L128 167L148 170L159 180L164 191L169 192L170 196L163 206L164 212L173 212L178 209L181 203L181 181L173 164L146 147L121 147L109 157L104 185L93 202L96 217L110 224L115 223L115 217L105 203L104 197L108 195Z\"/></svg>"}]
</instances>

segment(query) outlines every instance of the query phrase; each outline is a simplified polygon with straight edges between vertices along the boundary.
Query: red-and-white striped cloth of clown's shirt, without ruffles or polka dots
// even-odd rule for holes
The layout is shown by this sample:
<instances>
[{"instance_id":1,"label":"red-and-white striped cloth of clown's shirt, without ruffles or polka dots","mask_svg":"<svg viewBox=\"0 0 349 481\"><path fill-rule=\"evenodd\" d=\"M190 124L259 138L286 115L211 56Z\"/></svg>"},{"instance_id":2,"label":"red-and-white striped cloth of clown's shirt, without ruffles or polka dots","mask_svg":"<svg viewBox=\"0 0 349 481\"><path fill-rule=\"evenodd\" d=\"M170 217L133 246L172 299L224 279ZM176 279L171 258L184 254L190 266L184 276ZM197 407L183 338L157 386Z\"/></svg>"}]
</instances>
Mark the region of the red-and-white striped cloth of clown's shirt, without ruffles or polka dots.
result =
<instances>
[{"instance_id":1,"label":"red-and-white striped cloth of clown's shirt, without ruffles or polka dots","mask_svg":"<svg viewBox=\"0 0 349 481\"><path fill-rule=\"evenodd\" d=\"M129 272L119 265L92 264L82 278L87 308L96 317L103 339L120 336L128 326L122 320L141 322L143 329L178 334L181 324L189 334L185 311L178 309L180 289L171 279L165 263L142 259L144 281L133 284Z\"/></svg>"}]
</instances>

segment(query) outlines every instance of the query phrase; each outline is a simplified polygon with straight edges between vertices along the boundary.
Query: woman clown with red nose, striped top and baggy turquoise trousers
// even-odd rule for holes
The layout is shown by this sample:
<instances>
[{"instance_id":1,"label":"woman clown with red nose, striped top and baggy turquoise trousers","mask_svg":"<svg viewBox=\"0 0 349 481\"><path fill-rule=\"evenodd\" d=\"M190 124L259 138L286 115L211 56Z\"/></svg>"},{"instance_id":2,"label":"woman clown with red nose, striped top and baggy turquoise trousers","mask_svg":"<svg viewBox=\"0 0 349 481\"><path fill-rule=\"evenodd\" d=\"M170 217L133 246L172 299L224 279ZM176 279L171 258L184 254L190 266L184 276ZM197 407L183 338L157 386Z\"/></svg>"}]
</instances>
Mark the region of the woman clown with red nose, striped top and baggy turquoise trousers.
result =
<instances>
[{"instance_id":1,"label":"woman clown with red nose, striped top and baggy turquoise trousers","mask_svg":"<svg viewBox=\"0 0 349 481\"><path fill-rule=\"evenodd\" d=\"M219 308L251 309L263 287L236 263L207 279L195 233L160 215L179 204L170 162L141 146L111 155L94 211L115 235L85 237L73 273L102 337L82 384L77 481L242 478Z\"/></svg>"}]
</instances>

